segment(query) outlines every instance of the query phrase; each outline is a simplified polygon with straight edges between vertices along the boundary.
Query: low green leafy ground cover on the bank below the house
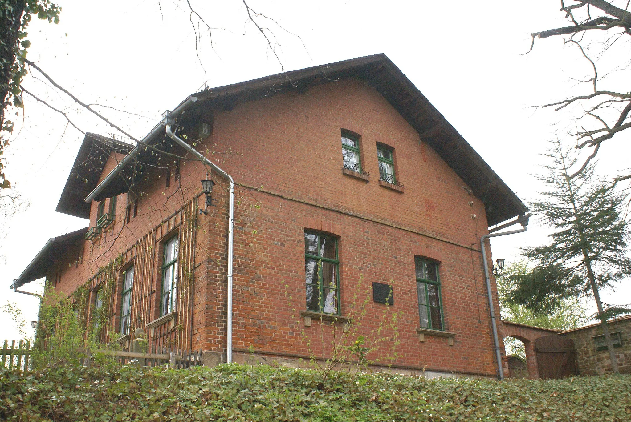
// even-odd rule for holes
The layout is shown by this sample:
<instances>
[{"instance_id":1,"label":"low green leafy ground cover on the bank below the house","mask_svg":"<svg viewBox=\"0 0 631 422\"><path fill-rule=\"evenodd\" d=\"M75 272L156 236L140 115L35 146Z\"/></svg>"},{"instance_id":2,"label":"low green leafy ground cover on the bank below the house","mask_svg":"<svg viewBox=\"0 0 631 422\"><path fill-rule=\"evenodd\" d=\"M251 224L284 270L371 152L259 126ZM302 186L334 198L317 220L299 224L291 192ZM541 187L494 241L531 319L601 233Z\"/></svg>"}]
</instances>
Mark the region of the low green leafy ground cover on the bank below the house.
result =
<instances>
[{"instance_id":1,"label":"low green leafy ground cover on the bank below the house","mask_svg":"<svg viewBox=\"0 0 631 422\"><path fill-rule=\"evenodd\" d=\"M425 379L309 370L62 366L0 370L9 421L631 421L631 375Z\"/></svg>"}]
</instances>

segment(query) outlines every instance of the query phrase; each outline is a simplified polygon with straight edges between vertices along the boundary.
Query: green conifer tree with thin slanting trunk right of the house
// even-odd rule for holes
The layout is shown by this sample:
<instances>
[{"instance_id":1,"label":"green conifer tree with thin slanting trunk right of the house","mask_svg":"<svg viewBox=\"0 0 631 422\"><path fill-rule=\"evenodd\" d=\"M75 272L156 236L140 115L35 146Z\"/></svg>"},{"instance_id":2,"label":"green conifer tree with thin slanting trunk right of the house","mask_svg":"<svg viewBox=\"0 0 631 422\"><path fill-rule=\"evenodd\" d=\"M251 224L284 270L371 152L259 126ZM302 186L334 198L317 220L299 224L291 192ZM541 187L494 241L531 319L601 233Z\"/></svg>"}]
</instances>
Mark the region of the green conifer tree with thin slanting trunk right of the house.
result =
<instances>
[{"instance_id":1,"label":"green conifer tree with thin slanting trunk right of the house","mask_svg":"<svg viewBox=\"0 0 631 422\"><path fill-rule=\"evenodd\" d=\"M616 185L594 176L594 166L572 174L577 158L570 156L559 141L546 155L550 164L545 182L545 198L532 204L543 223L553 229L550 243L525 248L522 255L537 266L524 274L512 276L516 287L509 293L512 303L522 303L535 314L545 314L568 298L592 295L598 308L609 350L611 369L618 364L607 325L625 308L603 308L599 290L631 274L627 257L628 222L623 214L625 196Z\"/></svg>"}]
</instances>

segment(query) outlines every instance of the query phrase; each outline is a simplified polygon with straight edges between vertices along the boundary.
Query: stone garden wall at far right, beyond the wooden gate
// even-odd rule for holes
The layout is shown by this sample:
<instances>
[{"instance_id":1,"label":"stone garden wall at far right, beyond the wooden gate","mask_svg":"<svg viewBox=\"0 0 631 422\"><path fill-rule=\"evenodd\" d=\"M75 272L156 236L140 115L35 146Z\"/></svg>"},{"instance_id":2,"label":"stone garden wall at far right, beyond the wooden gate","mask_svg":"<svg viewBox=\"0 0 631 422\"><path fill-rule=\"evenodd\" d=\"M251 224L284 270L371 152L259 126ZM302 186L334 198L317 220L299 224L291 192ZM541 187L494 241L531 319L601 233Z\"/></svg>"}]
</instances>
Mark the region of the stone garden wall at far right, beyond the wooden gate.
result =
<instances>
[{"instance_id":1,"label":"stone garden wall at far right, beyond the wooden gate","mask_svg":"<svg viewBox=\"0 0 631 422\"><path fill-rule=\"evenodd\" d=\"M620 373L631 373L631 316L609 322L609 331L611 333L619 331L622 337L622 346L614 348L618 359L618 370ZM600 324L560 333L574 340L576 361L581 375L603 375L603 373L611 372L609 351L596 350L593 339L594 336L602 334L603 329Z\"/></svg>"}]
</instances>

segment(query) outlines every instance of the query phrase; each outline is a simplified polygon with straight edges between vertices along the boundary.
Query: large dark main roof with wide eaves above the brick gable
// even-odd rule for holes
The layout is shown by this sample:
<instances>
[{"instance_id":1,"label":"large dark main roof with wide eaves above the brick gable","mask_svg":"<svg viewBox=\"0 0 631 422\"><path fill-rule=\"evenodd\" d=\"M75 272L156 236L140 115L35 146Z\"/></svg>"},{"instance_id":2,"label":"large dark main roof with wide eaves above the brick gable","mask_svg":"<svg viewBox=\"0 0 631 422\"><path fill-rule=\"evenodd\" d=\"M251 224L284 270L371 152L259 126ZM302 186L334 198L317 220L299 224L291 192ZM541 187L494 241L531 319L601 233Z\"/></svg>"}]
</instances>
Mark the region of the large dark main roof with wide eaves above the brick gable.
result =
<instances>
[{"instance_id":1,"label":"large dark main roof with wide eaves above the brick gable","mask_svg":"<svg viewBox=\"0 0 631 422\"><path fill-rule=\"evenodd\" d=\"M485 202L489 226L497 225L528 211L528 208L498 177L497 173L385 54L308 67L203 90L180 103L175 108L178 110L178 115L174 117L179 117L182 126L191 126L199 119L211 115L212 110L218 107L232 110L239 103L288 91L304 93L313 86L334 83L346 78L360 78L368 81L391 103L392 107L420 134L422 141L435 149L473 190L473 194ZM183 110L186 110L186 113ZM158 124L143 138L143 143L163 150L170 147L171 141L165 137L163 130L160 131ZM148 163L145 160L151 160L151 156L155 155L154 151L146 146L143 148L136 146L131 153L136 155L139 163ZM139 177L134 168L136 166L131 161L127 165L115 168L102 184L97 185L90 192L86 200L93 198L99 201L105 197L127 192L129 186L133 185L135 179Z\"/></svg>"}]
</instances>

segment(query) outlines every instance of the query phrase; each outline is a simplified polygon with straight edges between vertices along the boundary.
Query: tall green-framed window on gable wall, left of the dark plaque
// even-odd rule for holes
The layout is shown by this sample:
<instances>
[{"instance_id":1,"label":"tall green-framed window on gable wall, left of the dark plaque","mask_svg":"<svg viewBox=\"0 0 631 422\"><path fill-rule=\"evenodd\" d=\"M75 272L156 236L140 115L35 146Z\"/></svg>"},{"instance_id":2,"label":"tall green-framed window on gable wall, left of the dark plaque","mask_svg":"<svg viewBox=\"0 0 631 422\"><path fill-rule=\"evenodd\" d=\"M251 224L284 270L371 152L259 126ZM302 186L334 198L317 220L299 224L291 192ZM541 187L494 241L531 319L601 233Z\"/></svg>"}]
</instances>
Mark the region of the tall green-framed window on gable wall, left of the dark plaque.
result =
<instances>
[{"instance_id":1,"label":"tall green-framed window on gable wall, left of the dark plaque","mask_svg":"<svg viewBox=\"0 0 631 422\"><path fill-rule=\"evenodd\" d=\"M307 309L339 315L338 242L331 236L305 232Z\"/></svg>"}]
</instances>

